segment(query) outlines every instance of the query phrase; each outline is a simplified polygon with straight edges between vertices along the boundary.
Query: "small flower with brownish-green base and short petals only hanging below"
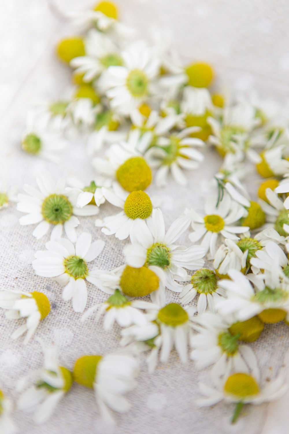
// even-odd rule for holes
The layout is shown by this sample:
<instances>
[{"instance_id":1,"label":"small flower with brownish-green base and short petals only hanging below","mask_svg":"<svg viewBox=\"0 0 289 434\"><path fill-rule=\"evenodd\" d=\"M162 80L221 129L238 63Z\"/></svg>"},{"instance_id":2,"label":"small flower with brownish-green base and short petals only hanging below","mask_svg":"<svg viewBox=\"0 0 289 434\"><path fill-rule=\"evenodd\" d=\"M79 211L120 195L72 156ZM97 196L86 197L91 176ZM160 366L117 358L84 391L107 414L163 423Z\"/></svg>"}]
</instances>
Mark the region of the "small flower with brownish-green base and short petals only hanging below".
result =
<instances>
[{"instance_id":1,"label":"small flower with brownish-green base and short petals only hanging below","mask_svg":"<svg viewBox=\"0 0 289 434\"><path fill-rule=\"evenodd\" d=\"M215 303L220 296L224 296L224 289L218 287L218 276L213 270L201 268L191 277L191 283L185 285L180 293L181 302L187 304L199 294L197 312L203 313L208 308L215 311Z\"/></svg>"}]
</instances>

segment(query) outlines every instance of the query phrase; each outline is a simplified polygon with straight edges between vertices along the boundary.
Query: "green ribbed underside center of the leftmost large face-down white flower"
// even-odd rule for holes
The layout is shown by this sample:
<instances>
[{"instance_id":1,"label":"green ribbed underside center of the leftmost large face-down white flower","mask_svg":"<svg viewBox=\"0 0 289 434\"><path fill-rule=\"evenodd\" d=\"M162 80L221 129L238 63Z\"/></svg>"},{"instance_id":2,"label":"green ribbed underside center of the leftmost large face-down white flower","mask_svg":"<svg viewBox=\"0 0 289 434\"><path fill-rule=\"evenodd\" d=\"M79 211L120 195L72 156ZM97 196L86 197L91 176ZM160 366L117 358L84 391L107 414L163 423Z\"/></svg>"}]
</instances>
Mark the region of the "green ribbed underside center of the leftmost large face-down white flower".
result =
<instances>
[{"instance_id":1,"label":"green ribbed underside center of the leftmost large face-down white flower","mask_svg":"<svg viewBox=\"0 0 289 434\"><path fill-rule=\"evenodd\" d=\"M72 215L72 205L66 196L51 194L45 197L42 204L42 216L52 224L60 224L67 221Z\"/></svg>"}]
</instances>

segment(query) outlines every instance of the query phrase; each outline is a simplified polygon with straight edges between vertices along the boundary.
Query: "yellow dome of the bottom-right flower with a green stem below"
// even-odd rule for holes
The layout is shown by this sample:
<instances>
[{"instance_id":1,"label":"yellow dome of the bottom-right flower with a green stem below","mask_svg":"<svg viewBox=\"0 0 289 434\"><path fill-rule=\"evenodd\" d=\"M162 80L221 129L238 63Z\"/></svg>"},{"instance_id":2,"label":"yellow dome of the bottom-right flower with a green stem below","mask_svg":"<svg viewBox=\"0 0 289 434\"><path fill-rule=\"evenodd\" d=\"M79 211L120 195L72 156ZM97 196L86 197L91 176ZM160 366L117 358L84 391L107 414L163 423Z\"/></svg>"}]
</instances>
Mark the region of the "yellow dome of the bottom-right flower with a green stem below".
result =
<instances>
[{"instance_id":1,"label":"yellow dome of the bottom-right flower with a green stem below","mask_svg":"<svg viewBox=\"0 0 289 434\"><path fill-rule=\"evenodd\" d=\"M237 398L247 398L259 393L259 386L251 375L240 373L227 378L224 391Z\"/></svg>"}]
</instances>

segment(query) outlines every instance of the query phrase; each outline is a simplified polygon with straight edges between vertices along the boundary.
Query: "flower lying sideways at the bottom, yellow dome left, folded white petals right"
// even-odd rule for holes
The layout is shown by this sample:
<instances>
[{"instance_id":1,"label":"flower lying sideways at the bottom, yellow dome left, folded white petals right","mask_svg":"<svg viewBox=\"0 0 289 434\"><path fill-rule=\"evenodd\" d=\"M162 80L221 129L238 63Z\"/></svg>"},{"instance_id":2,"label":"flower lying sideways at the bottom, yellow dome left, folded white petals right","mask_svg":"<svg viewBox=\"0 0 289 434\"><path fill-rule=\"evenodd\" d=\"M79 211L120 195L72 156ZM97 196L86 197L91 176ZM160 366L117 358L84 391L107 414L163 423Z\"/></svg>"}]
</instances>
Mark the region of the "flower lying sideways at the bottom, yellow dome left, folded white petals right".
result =
<instances>
[{"instance_id":1,"label":"flower lying sideways at the bottom, yellow dome left, folded white petals right","mask_svg":"<svg viewBox=\"0 0 289 434\"><path fill-rule=\"evenodd\" d=\"M130 403L123 396L136 386L138 365L129 352L108 355L84 355L75 362L74 380L87 388L94 389L101 414L113 422L109 411L126 413Z\"/></svg>"}]
</instances>

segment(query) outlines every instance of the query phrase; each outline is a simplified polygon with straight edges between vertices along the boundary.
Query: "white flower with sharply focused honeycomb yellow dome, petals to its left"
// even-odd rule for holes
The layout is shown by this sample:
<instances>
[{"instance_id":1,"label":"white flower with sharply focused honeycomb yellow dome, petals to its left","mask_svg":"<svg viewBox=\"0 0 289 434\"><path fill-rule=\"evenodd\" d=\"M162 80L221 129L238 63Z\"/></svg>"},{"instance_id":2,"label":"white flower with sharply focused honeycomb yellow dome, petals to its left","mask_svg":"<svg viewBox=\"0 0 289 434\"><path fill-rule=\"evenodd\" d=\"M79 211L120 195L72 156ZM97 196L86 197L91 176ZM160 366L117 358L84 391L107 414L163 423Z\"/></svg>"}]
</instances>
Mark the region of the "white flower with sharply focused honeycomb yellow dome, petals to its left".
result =
<instances>
[{"instance_id":1,"label":"white flower with sharply focused honeycomb yellow dome, petals to its left","mask_svg":"<svg viewBox=\"0 0 289 434\"><path fill-rule=\"evenodd\" d=\"M139 227L146 227L146 220L151 216L153 204L144 191L128 193L117 183L112 189L102 188L104 197L116 207L122 208L120 213L95 220L95 226L101 227L106 235L115 234L119 240L134 236Z\"/></svg>"}]
</instances>

